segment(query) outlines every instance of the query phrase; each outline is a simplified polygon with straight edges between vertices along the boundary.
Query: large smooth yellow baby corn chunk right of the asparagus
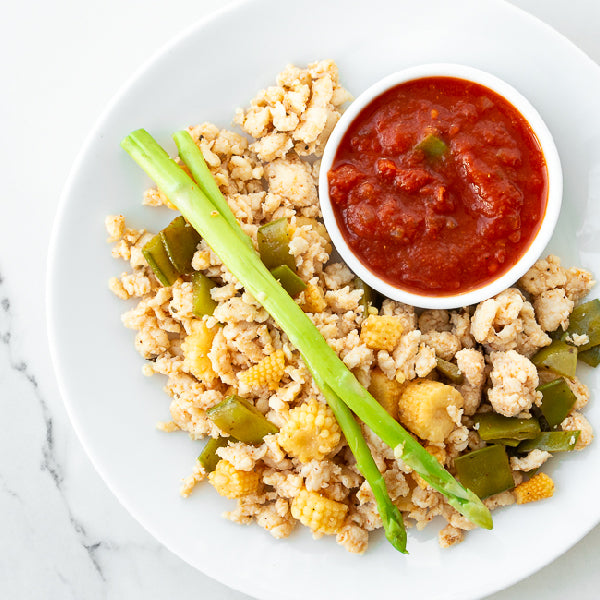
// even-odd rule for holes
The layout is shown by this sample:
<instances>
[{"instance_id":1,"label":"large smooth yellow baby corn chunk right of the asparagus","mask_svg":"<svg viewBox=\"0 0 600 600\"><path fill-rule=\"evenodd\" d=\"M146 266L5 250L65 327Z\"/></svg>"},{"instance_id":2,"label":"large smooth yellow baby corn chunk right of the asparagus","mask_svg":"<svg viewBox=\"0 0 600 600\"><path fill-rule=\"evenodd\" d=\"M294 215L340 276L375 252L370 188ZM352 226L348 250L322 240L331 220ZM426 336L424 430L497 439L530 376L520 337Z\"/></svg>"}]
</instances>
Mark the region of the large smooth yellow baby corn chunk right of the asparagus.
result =
<instances>
[{"instance_id":1,"label":"large smooth yellow baby corn chunk right of the asparagus","mask_svg":"<svg viewBox=\"0 0 600 600\"><path fill-rule=\"evenodd\" d=\"M406 385L398 402L398 419L421 439L439 444L456 424L448 407L463 407L463 397L451 385L415 379Z\"/></svg>"}]
</instances>

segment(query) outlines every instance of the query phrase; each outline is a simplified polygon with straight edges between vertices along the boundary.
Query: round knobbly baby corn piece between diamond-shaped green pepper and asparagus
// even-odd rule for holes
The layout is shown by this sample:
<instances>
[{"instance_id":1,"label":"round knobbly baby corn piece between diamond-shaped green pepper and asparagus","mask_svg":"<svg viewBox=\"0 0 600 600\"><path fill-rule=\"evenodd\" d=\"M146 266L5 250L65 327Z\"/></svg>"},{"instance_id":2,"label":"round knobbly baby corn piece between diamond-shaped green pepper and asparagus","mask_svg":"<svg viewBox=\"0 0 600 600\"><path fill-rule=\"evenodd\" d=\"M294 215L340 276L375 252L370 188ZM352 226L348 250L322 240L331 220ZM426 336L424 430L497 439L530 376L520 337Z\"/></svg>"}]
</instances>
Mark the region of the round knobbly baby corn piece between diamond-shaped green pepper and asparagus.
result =
<instances>
[{"instance_id":1,"label":"round knobbly baby corn piece between diamond-shaped green pepper and asparagus","mask_svg":"<svg viewBox=\"0 0 600 600\"><path fill-rule=\"evenodd\" d=\"M309 462L322 460L339 443L340 427L326 404L311 398L293 408L278 434L279 445L290 455Z\"/></svg>"}]
</instances>

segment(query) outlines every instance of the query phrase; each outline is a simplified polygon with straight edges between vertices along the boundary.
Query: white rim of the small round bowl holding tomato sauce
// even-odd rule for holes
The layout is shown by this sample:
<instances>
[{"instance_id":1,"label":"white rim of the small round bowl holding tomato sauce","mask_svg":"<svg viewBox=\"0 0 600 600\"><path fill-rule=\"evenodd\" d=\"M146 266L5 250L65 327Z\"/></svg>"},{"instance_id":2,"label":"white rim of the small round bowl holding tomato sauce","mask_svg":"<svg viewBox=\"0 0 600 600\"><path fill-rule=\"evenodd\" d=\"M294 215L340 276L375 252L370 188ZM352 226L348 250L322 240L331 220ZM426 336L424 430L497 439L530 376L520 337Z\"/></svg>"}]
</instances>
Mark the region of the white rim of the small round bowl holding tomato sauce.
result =
<instances>
[{"instance_id":1,"label":"white rim of the small round bowl holding tomato sauce","mask_svg":"<svg viewBox=\"0 0 600 600\"><path fill-rule=\"evenodd\" d=\"M492 282L467 292L448 296L428 296L426 294L415 294L400 287L390 285L375 275L366 267L359 258L352 252L346 240L344 239L329 197L329 184L327 181L327 172L331 168L338 146L348 130L348 127L358 116L360 111L365 108L372 100L389 90L390 88L421 79L423 77L455 77L457 79L466 79L474 83L483 85L500 96L503 96L510 102L529 123L531 129L537 136L548 169L548 200L546 212L544 214L539 231L531 242L527 251L521 256L517 263L506 273L494 279ZM431 63L403 69L387 77L384 77L371 87L366 89L346 110L342 118L338 121L329 141L325 147L323 159L321 162L321 171L319 177L319 197L321 210L325 226L336 250L339 252L348 266L372 288L381 292L384 296L399 300L406 304L418 306L421 308L458 308L481 302L487 298L498 294L502 290L510 287L519 277L524 275L529 267L540 257L544 248L550 241L554 227L560 213L563 193L562 168L558 151L554 144L552 134L546 127L546 124L535 110L535 108L524 98L515 88L498 77L485 71L474 69L465 65L448 63Z\"/></svg>"}]
</instances>

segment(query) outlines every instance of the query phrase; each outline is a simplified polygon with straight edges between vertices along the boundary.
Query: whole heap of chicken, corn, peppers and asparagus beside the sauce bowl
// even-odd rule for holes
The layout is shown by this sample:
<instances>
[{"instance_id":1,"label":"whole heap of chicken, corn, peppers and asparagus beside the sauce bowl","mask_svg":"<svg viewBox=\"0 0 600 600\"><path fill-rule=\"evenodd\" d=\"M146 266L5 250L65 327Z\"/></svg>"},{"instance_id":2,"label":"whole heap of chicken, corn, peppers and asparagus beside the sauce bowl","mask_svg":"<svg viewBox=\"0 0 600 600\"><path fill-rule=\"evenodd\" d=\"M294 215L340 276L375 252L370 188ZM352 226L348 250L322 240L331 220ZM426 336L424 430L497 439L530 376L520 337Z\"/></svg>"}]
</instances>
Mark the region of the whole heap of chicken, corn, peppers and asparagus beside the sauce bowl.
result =
<instances>
[{"instance_id":1,"label":"whole heap of chicken, corn, peppers and asparagus beside the sauce bowl","mask_svg":"<svg viewBox=\"0 0 600 600\"><path fill-rule=\"evenodd\" d=\"M593 319L589 334L584 326L567 332L594 282L550 256L519 287L475 307L378 303L346 265L330 260L319 221L314 159L346 99L335 64L322 61L288 67L238 112L252 144L205 123L174 136L174 162L145 132L129 136L125 147L158 184L145 204L176 206L184 227L166 229L187 236L189 223L201 238L191 271L188 254L177 255L177 277L165 285L162 267L144 254L148 244L160 253L156 236L127 227L122 216L107 218L113 255L132 267L110 287L138 301L123 322L137 330L144 373L167 377L171 419L160 428L209 438L183 495L208 479L236 499L226 513L233 521L256 521L277 538L302 523L358 553L382 527L405 551L404 522L421 529L440 515L448 523L440 543L448 546L477 524L489 526L488 510L516 501L526 474L550 457L545 448L591 442L580 412L587 387L547 366L538 371L532 359L553 342L549 333L589 350ZM158 239L169 258L164 232ZM303 289L288 294L271 275L280 267ZM557 311L561 321L544 329ZM575 397L570 408L564 390L537 390L556 380ZM548 414L568 411L554 428L544 402ZM488 441L478 431L485 415L500 417L488 424ZM562 435L543 437L552 433ZM488 461L473 457L481 450ZM485 477L497 465L499 476ZM527 497L548 495L541 482Z\"/></svg>"}]
</instances>

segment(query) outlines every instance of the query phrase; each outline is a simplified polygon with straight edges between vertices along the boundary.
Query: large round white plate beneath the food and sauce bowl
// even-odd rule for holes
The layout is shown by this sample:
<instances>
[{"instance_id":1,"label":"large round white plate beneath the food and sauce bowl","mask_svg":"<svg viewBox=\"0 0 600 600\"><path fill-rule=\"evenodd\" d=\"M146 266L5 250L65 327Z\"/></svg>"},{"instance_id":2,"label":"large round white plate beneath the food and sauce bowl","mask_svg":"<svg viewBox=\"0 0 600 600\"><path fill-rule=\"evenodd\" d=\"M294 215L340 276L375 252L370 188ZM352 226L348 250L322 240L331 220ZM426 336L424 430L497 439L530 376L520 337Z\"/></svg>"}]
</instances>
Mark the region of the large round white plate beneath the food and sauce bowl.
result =
<instances>
[{"instance_id":1,"label":"large round white plate beneath the food and sauce bowl","mask_svg":"<svg viewBox=\"0 0 600 600\"><path fill-rule=\"evenodd\" d=\"M594 268L600 250L600 69L551 28L492 0L256 0L200 23L155 56L110 104L66 185L48 268L48 321L57 377L74 427L123 505L157 539L208 575L262 599L445 600L481 597L547 564L600 519L600 447L555 459L552 500L494 513L450 550L437 528L411 531L409 556L373 535L348 554L306 531L275 541L257 526L220 518L230 503L209 486L178 496L200 444L154 429L168 418L160 377L141 374L124 304L106 282L123 264L105 244L104 217L122 213L155 230L167 212L141 206L149 184L119 147L145 127L169 149L170 133L204 120L227 126L237 106L286 63L331 57L360 93L387 73L423 62L456 62L498 75L538 109L555 136L565 175L563 213L551 242L566 264ZM578 234L581 234L579 235ZM594 265L593 263L596 263ZM598 375L587 381L597 396ZM587 411L600 422L600 405Z\"/></svg>"}]
</instances>

